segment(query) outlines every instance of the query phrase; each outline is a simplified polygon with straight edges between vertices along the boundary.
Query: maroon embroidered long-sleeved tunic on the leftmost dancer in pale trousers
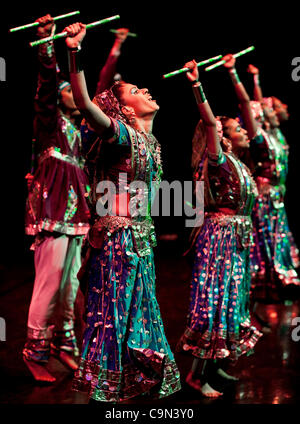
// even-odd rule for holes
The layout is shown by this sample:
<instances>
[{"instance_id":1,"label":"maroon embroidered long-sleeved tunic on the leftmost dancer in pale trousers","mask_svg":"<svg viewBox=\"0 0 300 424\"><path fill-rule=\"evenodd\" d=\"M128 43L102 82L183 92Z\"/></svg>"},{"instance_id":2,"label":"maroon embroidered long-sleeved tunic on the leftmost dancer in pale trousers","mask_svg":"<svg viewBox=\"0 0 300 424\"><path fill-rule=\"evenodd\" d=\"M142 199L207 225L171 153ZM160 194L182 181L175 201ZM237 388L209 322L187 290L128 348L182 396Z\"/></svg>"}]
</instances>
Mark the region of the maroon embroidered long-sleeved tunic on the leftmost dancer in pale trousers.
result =
<instances>
[{"instance_id":1,"label":"maroon embroidered long-sleeved tunic on the leftmost dancer in pale trousers","mask_svg":"<svg viewBox=\"0 0 300 424\"><path fill-rule=\"evenodd\" d=\"M88 179L80 131L60 111L53 46L39 50L34 137L38 167L26 201L25 232L84 235L89 229Z\"/></svg>"}]
</instances>

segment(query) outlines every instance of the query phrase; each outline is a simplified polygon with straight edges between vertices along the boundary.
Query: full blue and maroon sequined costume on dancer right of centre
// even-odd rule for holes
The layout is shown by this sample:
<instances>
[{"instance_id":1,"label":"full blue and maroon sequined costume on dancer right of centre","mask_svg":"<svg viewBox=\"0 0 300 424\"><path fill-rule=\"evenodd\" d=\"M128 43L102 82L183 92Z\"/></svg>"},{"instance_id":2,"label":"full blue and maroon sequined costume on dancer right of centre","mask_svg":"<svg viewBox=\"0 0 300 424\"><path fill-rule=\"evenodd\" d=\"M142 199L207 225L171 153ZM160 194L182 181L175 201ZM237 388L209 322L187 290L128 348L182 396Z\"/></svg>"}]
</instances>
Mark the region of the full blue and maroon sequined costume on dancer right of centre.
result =
<instances>
[{"instance_id":1,"label":"full blue and maroon sequined costume on dancer right of centre","mask_svg":"<svg viewBox=\"0 0 300 424\"><path fill-rule=\"evenodd\" d=\"M221 122L217 123L221 136ZM200 121L193 141L198 150L201 128ZM235 361L251 352L262 335L251 326L249 314L250 214L256 185L248 168L222 149L212 155L205 148L195 178L204 181L206 210L194 234L189 314L177 349L196 358Z\"/></svg>"}]
</instances>

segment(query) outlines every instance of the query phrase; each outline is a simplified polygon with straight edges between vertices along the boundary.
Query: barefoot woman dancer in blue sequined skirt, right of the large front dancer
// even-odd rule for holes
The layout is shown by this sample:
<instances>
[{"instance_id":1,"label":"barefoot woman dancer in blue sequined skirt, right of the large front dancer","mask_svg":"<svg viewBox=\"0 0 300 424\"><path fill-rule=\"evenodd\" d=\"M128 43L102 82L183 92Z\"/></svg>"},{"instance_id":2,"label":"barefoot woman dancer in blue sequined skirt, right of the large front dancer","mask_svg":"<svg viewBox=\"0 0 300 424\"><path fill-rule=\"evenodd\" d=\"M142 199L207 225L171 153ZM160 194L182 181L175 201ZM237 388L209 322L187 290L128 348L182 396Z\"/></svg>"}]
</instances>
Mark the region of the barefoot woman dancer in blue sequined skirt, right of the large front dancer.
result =
<instances>
[{"instance_id":1,"label":"barefoot woman dancer in blue sequined skirt, right of the large front dancer","mask_svg":"<svg viewBox=\"0 0 300 424\"><path fill-rule=\"evenodd\" d=\"M227 379L227 359L251 351L261 333L249 315L251 211L256 185L239 156L249 148L236 119L216 119L198 81L196 62L185 65L202 120L194 136L196 178L204 181L205 218L195 234L188 323L177 349L195 358L187 383L217 397L215 374ZM225 135L225 137L224 137Z\"/></svg>"}]
</instances>

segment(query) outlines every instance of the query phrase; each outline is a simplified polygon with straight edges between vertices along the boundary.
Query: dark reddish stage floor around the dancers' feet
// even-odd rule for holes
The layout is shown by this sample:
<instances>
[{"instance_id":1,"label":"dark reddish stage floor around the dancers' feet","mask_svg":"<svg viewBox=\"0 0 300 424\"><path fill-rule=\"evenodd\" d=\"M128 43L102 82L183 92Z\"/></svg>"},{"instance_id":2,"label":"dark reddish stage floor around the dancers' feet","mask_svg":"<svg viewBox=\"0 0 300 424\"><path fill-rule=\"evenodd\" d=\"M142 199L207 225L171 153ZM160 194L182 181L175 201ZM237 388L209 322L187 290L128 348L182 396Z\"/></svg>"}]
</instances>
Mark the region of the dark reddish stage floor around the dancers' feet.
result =
<instances>
[{"instance_id":1,"label":"dark reddish stage floor around the dancers' feet","mask_svg":"<svg viewBox=\"0 0 300 424\"><path fill-rule=\"evenodd\" d=\"M72 373L60 362L51 358L49 369L57 378L52 385L34 382L22 360L26 338L26 321L32 293L34 270L32 260L25 264L3 267L4 282L0 287L0 316L6 322L6 341L0 342L1 404L87 404L86 395L71 391ZM184 330L189 302L191 269L182 257L176 242L161 242L156 251L157 299L166 335L174 351ZM300 317L299 301L283 304L260 305L259 312L272 324L272 332L265 334L249 357L241 357L231 369L238 376L237 383L223 386L224 396L206 399L185 383L192 359L175 354L182 390L169 398L153 401L141 396L124 404L155 405L207 405L207 404L289 404L300 403L300 341L292 340L291 321ZM80 341L83 331L83 296L76 302L76 333ZM298 335L300 331L298 331ZM80 343L79 343L80 344Z\"/></svg>"}]
</instances>

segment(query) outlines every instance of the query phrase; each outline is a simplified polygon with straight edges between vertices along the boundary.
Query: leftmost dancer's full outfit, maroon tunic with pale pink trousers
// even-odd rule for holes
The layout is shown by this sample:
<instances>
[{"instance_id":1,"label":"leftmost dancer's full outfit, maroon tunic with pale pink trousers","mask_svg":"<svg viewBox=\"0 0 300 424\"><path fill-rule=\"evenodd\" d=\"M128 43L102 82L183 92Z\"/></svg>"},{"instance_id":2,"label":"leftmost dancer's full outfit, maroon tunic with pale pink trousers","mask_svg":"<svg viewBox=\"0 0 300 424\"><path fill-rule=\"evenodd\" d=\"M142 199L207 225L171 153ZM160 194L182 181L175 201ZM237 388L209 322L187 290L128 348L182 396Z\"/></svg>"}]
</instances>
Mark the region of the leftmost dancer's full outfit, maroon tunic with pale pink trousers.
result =
<instances>
[{"instance_id":1,"label":"leftmost dancer's full outfit, maroon tunic with pale pink trousers","mask_svg":"<svg viewBox=\"0 0 300 424\"><path fill-rule=\"evenodd\" d=\"M74 303L79 287L81 244L89 230L88 179L83 171L80 131L58 107L60 90L51 43L39 47L34 136L38 167L26 201L26 234L33 245L35 282L28 315L24 359L46 363L53 324L53 352L79 354Z\"/></svg>"}]
</instances>

